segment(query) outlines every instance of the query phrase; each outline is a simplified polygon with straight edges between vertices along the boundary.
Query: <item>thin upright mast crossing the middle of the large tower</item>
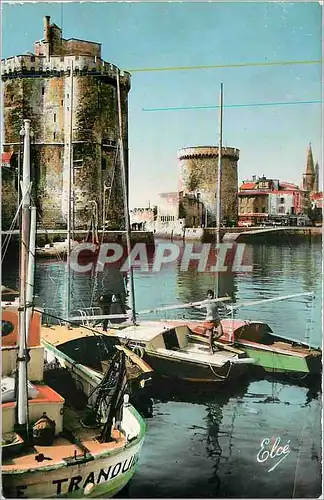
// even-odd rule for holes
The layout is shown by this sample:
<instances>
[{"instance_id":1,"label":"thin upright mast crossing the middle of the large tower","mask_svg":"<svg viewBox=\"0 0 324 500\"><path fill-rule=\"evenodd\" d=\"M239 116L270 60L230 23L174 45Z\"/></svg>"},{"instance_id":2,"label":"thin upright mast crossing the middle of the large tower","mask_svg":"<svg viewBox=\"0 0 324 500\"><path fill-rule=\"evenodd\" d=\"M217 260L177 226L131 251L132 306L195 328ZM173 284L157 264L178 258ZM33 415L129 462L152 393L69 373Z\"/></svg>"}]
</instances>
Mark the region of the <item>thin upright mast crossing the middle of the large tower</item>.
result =
<instances>
[{"instance_id":1,"label":"thin upright mast crossing the middle of the large tower","mask_svg":"<svg viewBox=\"0 0 324 500\"><path fill-rule=\"evenodd\" d=\"M71 311L71 231L72 231L72 169L73 169L73 146L72 146L72 126L73 126L73 60L71 61L71 88L70 88L70 124L69 124L69 175L68 175L68 213L67 213L67 297L66 297L66 317L70 317Z\"/></svg>"}]
</instances>

